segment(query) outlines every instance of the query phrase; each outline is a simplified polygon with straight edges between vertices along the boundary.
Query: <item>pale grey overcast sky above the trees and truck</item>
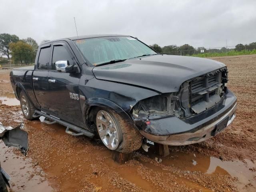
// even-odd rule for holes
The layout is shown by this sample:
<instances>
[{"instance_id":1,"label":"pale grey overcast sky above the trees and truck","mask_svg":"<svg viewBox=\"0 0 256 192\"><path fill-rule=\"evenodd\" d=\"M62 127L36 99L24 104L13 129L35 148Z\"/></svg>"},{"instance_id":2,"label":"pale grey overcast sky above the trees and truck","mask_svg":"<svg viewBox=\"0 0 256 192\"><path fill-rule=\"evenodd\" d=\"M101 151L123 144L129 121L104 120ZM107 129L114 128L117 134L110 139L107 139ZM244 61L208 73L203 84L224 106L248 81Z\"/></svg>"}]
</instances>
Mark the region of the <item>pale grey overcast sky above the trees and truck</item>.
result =
<instances>
[{"instance_id":1,"label":"pale grey overcast sky above the trees and truck","mask_svg":"<svg viewBox=\"0 0 256 192\"><path fill-rule=\"evenodd\" d=\"M0 33L54 40L128 34L146 44L256 42L256 0L0 0Z\"/></svg>"}]
</instances>

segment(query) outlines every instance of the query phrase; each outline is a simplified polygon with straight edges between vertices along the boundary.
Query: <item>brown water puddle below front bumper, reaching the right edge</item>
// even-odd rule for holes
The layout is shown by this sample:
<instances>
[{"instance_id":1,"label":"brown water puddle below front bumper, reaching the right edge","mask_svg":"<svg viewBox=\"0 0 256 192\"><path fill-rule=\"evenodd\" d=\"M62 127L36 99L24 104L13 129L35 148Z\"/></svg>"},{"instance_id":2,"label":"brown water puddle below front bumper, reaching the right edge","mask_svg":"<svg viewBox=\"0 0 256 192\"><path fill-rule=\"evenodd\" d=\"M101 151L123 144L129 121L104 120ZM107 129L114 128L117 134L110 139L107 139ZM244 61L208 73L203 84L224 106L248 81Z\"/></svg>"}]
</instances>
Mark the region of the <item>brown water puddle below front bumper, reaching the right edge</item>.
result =
<instances>
[{"instance_id":1,"label":"brown water puddle below front bumper, reaching the right edge","mask_svg":"<svg viewBox=\"0 0 256 192\"><path fill-rule=\"evenodd\" d=\"M216 157L183 152L171 152L169 156L160 157L154 153L153 147L149 152L141 151L141 153L153 160L156 157L161 158L162 164L179 168L180 170L202 172L208 175L220 174L232 176L238 179L238 183L236 185L238 191L256 191L256 164L248 159L243 160L243 162L240 160L222 161ZM143 164L158 172L170 172L148 162L143 162Z\"/></svg>"}]
</instances>

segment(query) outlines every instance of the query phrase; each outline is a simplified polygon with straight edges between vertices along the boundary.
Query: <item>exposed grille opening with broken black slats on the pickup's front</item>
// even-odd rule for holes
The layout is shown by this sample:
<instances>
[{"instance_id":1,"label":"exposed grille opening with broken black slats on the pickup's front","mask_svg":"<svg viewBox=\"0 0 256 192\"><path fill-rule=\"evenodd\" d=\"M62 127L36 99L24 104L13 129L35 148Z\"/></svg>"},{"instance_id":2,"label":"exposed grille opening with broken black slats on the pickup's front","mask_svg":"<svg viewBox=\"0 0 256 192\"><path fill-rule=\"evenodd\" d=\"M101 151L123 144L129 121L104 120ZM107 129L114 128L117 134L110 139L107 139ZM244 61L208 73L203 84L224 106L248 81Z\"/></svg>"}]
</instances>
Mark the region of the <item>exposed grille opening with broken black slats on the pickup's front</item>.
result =
<instances>
[{"instance_id":1,"label":"exposed grille opening with broken black slats on the pickup's front","mask_svg":"<svg viewBox=\"0 0 256 192\"><path fill-rule=\"evenodd\" d=\"M227 68L187 80L180 88L180 104L184 117L199 114L216 105L226 92Z\"/></svg>"}]
</instances>

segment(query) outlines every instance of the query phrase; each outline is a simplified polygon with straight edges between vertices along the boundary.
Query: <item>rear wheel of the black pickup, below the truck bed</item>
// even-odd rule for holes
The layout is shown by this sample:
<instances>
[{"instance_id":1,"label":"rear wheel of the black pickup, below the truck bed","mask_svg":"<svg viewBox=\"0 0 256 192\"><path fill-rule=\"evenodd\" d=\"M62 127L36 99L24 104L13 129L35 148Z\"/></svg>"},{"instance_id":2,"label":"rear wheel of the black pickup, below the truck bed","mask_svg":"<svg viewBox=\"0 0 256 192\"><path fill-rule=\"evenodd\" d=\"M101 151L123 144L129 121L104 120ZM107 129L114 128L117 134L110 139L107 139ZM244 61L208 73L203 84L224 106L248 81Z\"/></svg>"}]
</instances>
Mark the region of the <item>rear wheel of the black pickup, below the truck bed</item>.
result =
<instances>
[{"instance_id":1,"label":"rear wheel of the black pickup, below the truck bed","mask_svg":"<svg viewBox=\"0 0 256 192\"><path fill-rule=\"evenodd\" d=\"M28 99L28 96L24 93L24 91L20 92L20 106L21 106L22 113L27 120L35 119L33 117L33 114L36 108L30 102L30 100Z\"/></svg>"}]
</instances>

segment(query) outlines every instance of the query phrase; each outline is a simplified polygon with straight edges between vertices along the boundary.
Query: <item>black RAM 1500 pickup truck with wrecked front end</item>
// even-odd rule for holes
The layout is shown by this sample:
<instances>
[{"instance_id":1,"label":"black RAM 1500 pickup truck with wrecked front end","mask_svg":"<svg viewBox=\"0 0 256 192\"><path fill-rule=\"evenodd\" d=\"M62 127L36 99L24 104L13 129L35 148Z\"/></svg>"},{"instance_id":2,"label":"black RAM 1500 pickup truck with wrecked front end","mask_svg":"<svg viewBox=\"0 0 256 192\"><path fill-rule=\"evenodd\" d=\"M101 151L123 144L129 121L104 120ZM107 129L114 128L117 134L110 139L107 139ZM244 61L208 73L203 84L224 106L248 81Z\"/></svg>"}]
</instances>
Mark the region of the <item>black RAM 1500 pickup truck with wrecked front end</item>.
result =
<instances>
[{"instance_id":1,"label":"black RAM 1500 pickup truck with wrecked front end","mask_svg":"<svg viewBox=\"0 0 256 192\"><path fill-rule=\"evenodd\" d=\"M12 70L10 80L26 119L57 122L74 136L96 134L124 153L140 148L143 138L202 142L236 116L224 64L158 54L126 35L46 42L34 67Z\"/></svg>"}]
</instances>

